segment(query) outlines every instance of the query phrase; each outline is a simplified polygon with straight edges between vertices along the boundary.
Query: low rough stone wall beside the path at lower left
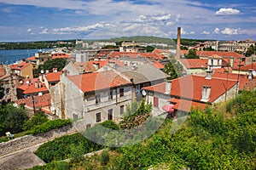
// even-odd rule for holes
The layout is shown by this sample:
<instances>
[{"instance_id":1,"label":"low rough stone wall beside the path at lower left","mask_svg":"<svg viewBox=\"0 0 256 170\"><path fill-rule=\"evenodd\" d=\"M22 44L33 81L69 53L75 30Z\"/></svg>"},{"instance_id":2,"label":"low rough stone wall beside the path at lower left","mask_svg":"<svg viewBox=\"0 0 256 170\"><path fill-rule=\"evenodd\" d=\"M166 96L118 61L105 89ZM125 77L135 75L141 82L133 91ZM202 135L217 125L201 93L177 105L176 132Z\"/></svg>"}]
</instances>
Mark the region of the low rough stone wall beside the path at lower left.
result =
<instances>
[{"instance_id":1,"label":"low rough stone wall beside the path at lower left","mask_svg":"<svg viewBox=\"0 0 256 170\"><path fill-rule=\"evenodd\" d=\"M14 153L18 150L23 150L32 147L37 144L41 144L55 138L60 138L63 135L77 133L77 130L73 125L52 129L47 133L33 135L26 135L20 138L9 140L0 144L0 156Z\"/></svg>"}]
</instances>

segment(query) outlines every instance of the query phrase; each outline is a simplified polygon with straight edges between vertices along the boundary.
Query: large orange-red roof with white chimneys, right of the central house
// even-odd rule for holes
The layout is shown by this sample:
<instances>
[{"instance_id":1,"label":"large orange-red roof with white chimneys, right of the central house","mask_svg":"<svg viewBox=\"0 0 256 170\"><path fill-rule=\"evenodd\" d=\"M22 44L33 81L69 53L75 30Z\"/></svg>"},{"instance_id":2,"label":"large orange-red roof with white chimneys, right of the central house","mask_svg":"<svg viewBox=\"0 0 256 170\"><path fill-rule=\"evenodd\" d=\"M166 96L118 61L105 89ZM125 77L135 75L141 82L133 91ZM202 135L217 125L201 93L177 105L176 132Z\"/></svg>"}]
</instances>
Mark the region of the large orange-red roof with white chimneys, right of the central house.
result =
<instances>
[{"instance_id":1,"label":"large orange-red roof with white chimneys, right of the central house","mask_svg":"<svg viewBox=\"0 0 256 170\"><path fill-rule=\"evenodd\" d=\"M208 102L213 102L236 85L236 81L224 80L212 77L206 79L205 77L189 75L172 80L172 89L170 95L177 96L185 99L201 101L201 92L203 86L211 87L211 95ZM149 91L164 94L166 92L166 82L149 86L144 88Z\"/></svg>"}]
</instances>

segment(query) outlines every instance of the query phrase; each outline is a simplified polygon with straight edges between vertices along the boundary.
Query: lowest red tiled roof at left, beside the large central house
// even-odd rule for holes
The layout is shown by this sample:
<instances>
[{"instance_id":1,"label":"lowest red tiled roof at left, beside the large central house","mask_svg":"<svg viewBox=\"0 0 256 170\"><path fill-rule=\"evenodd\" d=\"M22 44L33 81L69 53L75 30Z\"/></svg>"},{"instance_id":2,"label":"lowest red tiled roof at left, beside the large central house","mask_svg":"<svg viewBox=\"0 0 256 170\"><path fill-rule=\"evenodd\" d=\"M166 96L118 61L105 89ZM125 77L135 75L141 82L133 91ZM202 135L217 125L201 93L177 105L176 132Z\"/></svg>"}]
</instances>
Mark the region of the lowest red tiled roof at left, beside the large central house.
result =
<instances>
[{"instance_id":1,"label":"lowest red tiled roof at left, beside the large central house","mask_svg":"<svg viewBox=\"0 0 256 170\"><path fill-rule=\"evenodd\" d=\"M42 96L34 96L35 108L50 105L50 94L43 94ZM32 97L26 99L18 99L15 101L18 105L26 105L28 107L33 107Z\"/></svg>"}]
</instances>

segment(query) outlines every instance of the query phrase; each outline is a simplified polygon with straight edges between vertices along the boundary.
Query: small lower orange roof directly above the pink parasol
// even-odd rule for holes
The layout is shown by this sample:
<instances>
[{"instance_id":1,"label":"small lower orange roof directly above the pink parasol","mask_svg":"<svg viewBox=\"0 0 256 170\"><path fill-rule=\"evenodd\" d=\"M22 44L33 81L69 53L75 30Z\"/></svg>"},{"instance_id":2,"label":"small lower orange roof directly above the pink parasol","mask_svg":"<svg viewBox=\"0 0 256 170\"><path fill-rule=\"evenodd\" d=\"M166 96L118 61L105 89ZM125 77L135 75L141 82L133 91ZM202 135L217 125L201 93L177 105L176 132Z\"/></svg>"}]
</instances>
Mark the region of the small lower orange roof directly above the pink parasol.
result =
<instances>
[{"instance_id":1,"label":"small lower orange roof directly above the pink parasol","mask_svg":"<svg viewBox=\"0 0 256 170\"><path fill-rule=\"evenodd\" d=\"M206 104L201 102L195 102L187 99L176 99L172 98L170 99L170 102L172 102L174 105L172 106L172 109L178 110L178 111L186 111L189 112L191 107L199 110L206 109Z\"/></svg>"}]
</instances>

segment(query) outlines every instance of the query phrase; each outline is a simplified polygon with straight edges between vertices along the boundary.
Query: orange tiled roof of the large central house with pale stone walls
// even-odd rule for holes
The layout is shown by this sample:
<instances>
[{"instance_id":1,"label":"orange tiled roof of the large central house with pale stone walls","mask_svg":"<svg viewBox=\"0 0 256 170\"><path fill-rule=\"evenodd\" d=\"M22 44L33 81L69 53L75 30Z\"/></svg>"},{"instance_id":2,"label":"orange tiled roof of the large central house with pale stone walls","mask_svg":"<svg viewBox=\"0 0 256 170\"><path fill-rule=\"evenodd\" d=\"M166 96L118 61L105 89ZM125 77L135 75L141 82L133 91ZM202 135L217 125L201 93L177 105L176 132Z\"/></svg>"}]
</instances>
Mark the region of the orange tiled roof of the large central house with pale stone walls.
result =
<instances>
[{"instance_id":1,"label":"orange tiled roof of the large central house with pale stone walls","mask_svg":"<svg viewBox=\"0 0 256 170\"><path fill-rule=\"evenodd\" d=\"M83 92L92 92L131 83L114 71L93 72L76 76L68 76L68 78Z\"/></svg>"}]
</instances>

